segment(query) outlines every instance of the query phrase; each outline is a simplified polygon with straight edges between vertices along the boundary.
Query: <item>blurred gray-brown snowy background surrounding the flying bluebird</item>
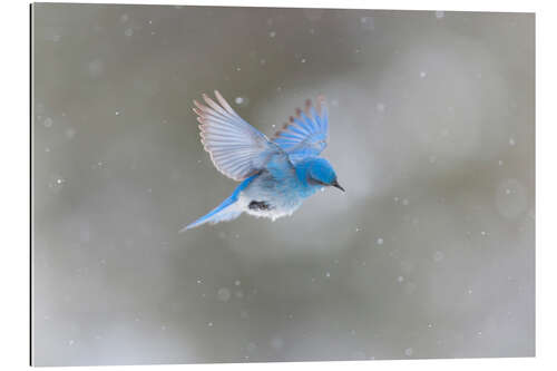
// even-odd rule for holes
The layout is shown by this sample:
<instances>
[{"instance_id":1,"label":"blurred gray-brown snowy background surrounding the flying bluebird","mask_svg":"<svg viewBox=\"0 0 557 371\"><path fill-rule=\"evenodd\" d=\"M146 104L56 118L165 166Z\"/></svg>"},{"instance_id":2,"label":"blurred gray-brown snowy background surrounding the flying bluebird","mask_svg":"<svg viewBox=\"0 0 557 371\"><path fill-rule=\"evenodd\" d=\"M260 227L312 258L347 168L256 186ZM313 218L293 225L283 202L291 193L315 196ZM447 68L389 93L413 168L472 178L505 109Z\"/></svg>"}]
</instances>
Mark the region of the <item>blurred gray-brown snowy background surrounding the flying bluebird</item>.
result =
<instances>
[{"instance_id":1,"label":"blurred gray-brown snowy background surrounding the flying bluebird","mask_svg":"<svg viewBox=\"0 0 557 371\"><path fill-rule=\"evenodd\" d=\"M535 17L36 4L40 365L535 354ZM343 194L178 231L235 187L190 101L329 99Z\"/></svg>"}]
</instances>

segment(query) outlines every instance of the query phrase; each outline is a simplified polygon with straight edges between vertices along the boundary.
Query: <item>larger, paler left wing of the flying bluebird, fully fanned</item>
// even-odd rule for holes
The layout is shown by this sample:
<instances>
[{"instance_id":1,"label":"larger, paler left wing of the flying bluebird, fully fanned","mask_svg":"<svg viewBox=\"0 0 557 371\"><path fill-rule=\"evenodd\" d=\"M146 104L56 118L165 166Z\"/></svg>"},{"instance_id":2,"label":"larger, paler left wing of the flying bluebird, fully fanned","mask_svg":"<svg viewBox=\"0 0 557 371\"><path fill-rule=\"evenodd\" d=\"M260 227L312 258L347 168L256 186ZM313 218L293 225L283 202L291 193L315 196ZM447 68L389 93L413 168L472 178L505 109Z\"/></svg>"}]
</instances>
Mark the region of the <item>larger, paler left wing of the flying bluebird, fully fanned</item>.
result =
<instances>
[{"instance_id":1,"label":"larger, paler left wing of the flying bluebird, fully fanned","mask_svg":"<svg viewBox=\"0 0 557 371\"><path fill-rule=\"evenodd\" d=\"M260 172L267 162L287 156L268 138L238 116L215 90L214 101L203 95L205 105L194 100L202 143L215 167L234 180L243 180Z\"/></svg>"}]
</instances>

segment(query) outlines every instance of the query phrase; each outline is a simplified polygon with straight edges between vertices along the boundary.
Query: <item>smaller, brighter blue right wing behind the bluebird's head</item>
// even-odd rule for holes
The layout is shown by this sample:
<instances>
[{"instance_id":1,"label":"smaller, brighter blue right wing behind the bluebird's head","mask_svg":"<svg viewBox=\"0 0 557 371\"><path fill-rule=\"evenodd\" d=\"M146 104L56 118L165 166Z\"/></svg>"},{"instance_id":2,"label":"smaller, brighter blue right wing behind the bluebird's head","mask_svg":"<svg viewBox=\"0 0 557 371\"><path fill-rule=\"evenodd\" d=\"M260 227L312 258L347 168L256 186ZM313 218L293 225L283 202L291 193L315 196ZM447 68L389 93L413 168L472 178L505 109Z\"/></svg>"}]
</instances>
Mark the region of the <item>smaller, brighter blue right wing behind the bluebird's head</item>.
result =
<instances>
[{"instance_id":1,"label":"smaller, brighter blue right wing behind the bluebird's head","mask_svg":"<svg viewBox=\"0 0 557 371\"><path fill-rule=\"evenodd\" d=\"M305 109L296 109L296 116L276 131L272 138L291 158L292 162L307 156L317 156L326 147L329 137L329 116L324 97L317 98L316 107L310 99Z\"/></svg>"}]
</instances>

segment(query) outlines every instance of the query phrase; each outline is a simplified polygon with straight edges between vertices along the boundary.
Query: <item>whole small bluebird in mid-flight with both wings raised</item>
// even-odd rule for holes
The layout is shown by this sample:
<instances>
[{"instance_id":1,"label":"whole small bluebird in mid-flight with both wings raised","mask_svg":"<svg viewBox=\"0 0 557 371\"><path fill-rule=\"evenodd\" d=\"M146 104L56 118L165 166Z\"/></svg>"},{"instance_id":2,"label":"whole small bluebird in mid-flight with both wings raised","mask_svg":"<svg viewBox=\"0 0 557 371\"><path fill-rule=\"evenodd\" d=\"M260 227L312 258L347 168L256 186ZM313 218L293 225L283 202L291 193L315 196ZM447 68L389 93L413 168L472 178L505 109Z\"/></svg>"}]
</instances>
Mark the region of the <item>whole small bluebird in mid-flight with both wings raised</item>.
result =
<instances>
[{"instance_id":1,"label":"whole small bluebird in mid-flight with both wings raised","mask_svg":"<svg viewBox=\"0 0 557 371\"><path fill-rule=\"evenodd\" d=\"M242 119L223 96L216 101L203 95L206 105L194 100L202 144L215 167L227 177L242 182L221 205L180 232L205 223L232 221L242 213L276 219L292 215L302 202L323 187L344 192L331 164L319 157L329 136L324 98L305 109L268 138Z\"/></svg>"}]
</instances>

